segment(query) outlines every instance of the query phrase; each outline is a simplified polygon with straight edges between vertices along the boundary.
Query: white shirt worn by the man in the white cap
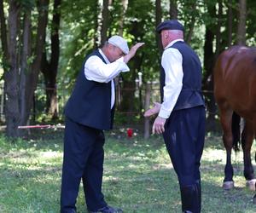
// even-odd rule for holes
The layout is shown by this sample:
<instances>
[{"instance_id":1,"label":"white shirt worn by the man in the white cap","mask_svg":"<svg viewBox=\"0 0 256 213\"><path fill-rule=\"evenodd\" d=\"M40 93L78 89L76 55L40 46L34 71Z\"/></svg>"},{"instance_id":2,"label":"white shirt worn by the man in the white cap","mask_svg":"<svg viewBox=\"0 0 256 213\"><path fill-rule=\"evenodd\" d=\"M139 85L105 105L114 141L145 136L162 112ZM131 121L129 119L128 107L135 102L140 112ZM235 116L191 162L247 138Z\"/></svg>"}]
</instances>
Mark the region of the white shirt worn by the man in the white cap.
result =
<instances>
[{"instance_id":1,"label":"white shirt worn by the man in the white cap","mask_svg":"<svg viewBox=\"0 0 256 213\"><path fill-rule=\"evenodd\" d=\"M114 83L113 78L119 75L120 72L129 72L129 67L125 64L124 58L109 62L106 55L103 54L102 49L99 49L100 54L107 62L105 64L101 58L96 55L90 56L84 65L84 75L89 81L96 81L99 83L108 83L111 81L111 108L114 104Z\"/></svg>"}]
</instances>

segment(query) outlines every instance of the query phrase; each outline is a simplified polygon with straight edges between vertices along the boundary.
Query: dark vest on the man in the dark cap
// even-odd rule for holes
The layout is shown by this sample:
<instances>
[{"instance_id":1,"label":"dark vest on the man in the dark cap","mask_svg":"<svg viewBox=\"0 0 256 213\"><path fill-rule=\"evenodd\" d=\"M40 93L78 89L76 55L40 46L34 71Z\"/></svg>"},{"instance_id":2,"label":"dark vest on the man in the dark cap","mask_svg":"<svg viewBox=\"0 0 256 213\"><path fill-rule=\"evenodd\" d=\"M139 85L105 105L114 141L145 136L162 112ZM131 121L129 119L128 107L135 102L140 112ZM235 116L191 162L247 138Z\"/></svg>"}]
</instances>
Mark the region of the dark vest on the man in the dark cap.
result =
<instances>
[{"instance_id":1,"label":"dark vest on the man in the dark cap","mask_svg":"<svg viewBox=\"0 0 256 213\"><path fill-rule=\"evenodd\" d=\"M201 94L201 62L195 51L184 42L174 43L170 48L177 49L183 56L183 88L177 98L173 111L205 106ZM166 82L164 69L160 72L160 93L163 101L163 88Z\"/></svg>"}]
</instances>

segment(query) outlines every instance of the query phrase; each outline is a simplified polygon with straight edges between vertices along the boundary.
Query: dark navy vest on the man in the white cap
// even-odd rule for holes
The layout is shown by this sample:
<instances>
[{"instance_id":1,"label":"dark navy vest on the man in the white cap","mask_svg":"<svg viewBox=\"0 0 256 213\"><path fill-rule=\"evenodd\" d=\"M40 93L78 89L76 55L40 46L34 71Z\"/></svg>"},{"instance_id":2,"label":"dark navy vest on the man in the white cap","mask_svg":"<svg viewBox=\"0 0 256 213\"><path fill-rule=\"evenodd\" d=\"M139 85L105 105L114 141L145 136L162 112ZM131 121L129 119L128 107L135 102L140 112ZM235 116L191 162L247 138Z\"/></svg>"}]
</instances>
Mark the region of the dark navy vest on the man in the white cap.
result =
<instances>
[{"instance_id":1,"label":"dark navy vest on the man in the white cap","mask_svg":"<svg viewBox=\"0 0 256 213\"><path fill-rule=\"evenodd\" d=\"M88 55L79 72L73 93L67 101L65 115L74 122L98 130L110 130L113 126L113 110L111 104L111 82L98 83L85 78L84 65L90 56L103 59L99 50ZM113 107L114 108L114 107Z\"/></svg>"}]
</instances>

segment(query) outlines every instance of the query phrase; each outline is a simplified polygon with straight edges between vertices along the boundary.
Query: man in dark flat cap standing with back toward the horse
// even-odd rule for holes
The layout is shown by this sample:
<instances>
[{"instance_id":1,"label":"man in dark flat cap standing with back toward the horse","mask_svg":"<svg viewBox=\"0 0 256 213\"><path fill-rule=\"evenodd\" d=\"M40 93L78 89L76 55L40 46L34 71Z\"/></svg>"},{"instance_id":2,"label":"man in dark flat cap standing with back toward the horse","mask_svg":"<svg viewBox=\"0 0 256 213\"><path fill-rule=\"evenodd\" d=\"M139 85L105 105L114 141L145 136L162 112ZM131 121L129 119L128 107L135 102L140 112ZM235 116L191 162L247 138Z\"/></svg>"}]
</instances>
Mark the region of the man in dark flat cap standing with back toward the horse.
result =
<instances>
[{"instance_id":1,"label":"man in dark flat cap standing with back toward the horse","mask_svg":"<svg viewBox=\"0 0 256 213\"><path fill-rule=\"evenodd\" d=\"M153 134L163 134L179 181L183 212L201 212L200 161L205 138L205 103L201 95L201 62L183 41L183 25L166 20L157 26L161 58L161 101L145 112L157 114Z\"/></svg>"}]
</instances>

